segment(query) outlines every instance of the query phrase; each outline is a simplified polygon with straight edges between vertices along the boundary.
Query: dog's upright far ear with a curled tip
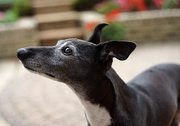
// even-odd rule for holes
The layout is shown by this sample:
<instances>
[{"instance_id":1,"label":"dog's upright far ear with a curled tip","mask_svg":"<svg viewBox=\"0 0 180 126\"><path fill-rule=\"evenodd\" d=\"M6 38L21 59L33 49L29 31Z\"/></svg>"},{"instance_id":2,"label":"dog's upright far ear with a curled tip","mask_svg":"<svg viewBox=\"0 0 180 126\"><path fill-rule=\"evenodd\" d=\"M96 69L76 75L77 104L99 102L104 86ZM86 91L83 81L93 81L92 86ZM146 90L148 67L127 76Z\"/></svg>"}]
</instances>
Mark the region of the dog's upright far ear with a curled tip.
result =
<instances>
[{"instance_id":1,"label":"dog's upright far ear with a curled tip","mask_svg":"<svg viewBox=\"0 0 180 126\"><path fill-rule=\"evenodd\" d=\"M102 29L107 26L107 23L101 23L98 24L95 29L94 32L92 34L92 36L87 40L88 42L92 42L94 44L99 44L101 41L101 31Z\"/></svg>"}]
</instances>

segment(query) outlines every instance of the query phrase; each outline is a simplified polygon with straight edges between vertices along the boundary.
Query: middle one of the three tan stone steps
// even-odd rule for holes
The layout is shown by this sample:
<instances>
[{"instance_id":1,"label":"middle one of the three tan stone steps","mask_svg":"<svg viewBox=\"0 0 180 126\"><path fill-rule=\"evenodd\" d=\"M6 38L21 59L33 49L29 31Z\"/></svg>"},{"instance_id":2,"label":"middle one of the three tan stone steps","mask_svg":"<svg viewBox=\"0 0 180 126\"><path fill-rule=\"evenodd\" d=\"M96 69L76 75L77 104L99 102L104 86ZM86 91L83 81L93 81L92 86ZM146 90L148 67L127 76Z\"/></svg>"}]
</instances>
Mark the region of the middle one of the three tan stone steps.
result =
<instances>
[{"instance_id":1,"label":"middle one of the three tan stone steps","mask_svg":"<svg viewBox=\"0 0 180 126\"><path fill-rule=\"evenodd\" d=\"M34 17L39 30L79 26L79 14L75 11L39 14Z\"/></svg>"}]
</instances>

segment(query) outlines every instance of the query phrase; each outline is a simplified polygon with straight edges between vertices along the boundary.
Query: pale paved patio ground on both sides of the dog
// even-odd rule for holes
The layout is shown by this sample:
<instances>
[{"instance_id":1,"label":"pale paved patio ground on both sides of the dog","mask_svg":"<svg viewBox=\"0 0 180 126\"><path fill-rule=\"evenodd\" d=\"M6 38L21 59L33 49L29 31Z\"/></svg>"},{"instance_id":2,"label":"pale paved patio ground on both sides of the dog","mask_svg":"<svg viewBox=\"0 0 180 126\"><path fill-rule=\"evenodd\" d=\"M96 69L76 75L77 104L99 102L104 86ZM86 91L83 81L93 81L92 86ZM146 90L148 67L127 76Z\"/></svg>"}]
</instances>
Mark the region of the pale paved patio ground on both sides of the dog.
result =
<instances>
[{"instance_id":1,"label":"pale paved patio ground on both sides of the dog","mask_svg":"<svg viewBox=\"0 0 180 126\"><path fill-rule=\"evenodd\" d=\"M164 62L180 64L180 42L140 45L113 67L128 81ZM32 74L17 60L0 60L0 77L0 126L86 125L82 105L65 84Z\"/></svg>"}]
</instances>

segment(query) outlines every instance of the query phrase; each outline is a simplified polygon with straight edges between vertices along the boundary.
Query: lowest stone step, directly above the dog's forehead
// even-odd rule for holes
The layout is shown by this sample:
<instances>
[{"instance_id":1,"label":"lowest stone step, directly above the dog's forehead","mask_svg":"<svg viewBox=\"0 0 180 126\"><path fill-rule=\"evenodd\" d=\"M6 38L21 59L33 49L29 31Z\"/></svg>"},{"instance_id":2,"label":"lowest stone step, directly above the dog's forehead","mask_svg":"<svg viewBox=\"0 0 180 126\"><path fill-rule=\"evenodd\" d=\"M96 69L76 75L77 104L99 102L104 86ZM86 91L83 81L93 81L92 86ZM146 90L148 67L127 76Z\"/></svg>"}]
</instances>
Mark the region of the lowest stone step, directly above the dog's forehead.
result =
<instances>
[{"instance_id":1,"label":"lowest stone step, directly above the dog's forehead","mask_svg":"<svg viewBox=\"0 0 180 126\"><path fill-rule=\"evenodd\" d=\"M44 30L39 32L39 37L42 46L52 46L60 39L68 38L83 38L83 31L81 28L64 28L54 30Z\"/></svg>"}]
</instances>

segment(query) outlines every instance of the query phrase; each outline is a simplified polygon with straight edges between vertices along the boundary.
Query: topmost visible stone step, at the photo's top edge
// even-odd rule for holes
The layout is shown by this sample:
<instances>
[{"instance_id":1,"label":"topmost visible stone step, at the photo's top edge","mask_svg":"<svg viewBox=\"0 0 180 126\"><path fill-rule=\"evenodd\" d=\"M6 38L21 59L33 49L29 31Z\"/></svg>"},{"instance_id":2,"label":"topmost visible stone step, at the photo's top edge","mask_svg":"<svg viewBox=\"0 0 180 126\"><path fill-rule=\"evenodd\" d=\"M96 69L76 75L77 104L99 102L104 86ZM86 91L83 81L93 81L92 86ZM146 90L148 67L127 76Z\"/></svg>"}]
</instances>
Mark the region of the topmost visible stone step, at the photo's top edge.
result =
<instances>
[{"instance_id":1,"label":"topmost visible stone step, at the photo's top edge","mask_svg":"<svg viewBox=\"0 0 180 126\"><path fill-rule=\"evenodd\" d=\"M32 0L31 3L35 14L72 10L72 4L69 0Z\"/></svg>"}]
</instances>

